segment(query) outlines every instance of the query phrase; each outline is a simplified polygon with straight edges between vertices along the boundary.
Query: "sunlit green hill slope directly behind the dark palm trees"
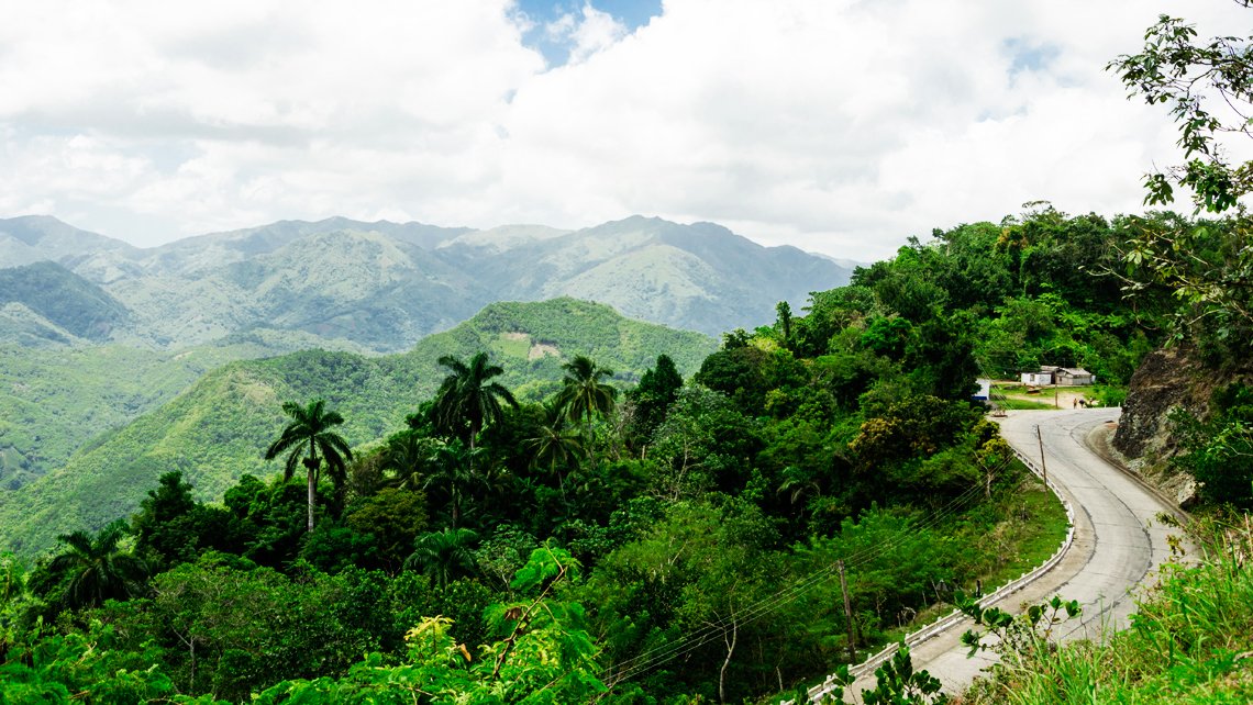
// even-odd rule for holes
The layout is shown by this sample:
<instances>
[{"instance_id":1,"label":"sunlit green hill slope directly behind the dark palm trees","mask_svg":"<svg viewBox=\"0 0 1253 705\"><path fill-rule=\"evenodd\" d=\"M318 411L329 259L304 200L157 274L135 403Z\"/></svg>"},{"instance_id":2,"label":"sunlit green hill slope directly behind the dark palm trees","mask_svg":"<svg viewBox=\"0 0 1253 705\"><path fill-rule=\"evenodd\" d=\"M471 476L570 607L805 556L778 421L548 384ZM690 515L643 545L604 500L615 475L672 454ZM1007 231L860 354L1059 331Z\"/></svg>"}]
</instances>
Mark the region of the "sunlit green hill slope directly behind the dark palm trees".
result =
<instances>
[{"instance_id":1,"label":"sunlit green hill slope directly behind the dark palm trees","mask_svg":"<svg viewBox=\"0 0 1253 705\"><path fill-rule=\"evenodd\" d=\"M403 425L429 398L444 372L445 354L492 351L504 383L538 398L560 378L560 363L588 354L633 382L658 354L684 373L715 349L713 339L620 317L609 307L574 299L492 304L456 328L421 341L398 356L363 357L307 351L234 362L129 426L103 436L49 475L0 495L0 547L35 553L58 533L96 528L134 512L157 478L182 470L205 500L246 472L277 466L262 450L282 427L279 404L325 397L347 419L345 436L370 443Z\"/></svg>"}]
</instances>

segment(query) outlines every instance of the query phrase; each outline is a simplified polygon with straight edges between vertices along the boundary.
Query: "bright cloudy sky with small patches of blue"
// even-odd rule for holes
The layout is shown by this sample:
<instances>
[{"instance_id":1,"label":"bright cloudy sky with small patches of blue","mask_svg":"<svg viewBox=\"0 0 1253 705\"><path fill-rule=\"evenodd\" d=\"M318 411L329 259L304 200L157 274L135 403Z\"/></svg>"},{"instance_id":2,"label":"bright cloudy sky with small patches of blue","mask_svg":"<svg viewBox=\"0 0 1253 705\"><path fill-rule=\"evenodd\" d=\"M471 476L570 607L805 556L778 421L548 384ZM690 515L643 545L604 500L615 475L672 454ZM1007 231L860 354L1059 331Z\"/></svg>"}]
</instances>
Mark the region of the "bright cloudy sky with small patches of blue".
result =
<instances>
[{"instance_id":1,"label":"bright cloudy sky with small patches of blue","mask_svg":"<svg viewBox=\"0 0 1253 705\"><path fill-rule=\"evenodd\" d=\"M644 214L868 262L1026 202L1141 210L1177 130L1104 66L1163 13L1253 24L1230 0L0 0L0 217L148 247Z\"/></svg>"}]
</instances>

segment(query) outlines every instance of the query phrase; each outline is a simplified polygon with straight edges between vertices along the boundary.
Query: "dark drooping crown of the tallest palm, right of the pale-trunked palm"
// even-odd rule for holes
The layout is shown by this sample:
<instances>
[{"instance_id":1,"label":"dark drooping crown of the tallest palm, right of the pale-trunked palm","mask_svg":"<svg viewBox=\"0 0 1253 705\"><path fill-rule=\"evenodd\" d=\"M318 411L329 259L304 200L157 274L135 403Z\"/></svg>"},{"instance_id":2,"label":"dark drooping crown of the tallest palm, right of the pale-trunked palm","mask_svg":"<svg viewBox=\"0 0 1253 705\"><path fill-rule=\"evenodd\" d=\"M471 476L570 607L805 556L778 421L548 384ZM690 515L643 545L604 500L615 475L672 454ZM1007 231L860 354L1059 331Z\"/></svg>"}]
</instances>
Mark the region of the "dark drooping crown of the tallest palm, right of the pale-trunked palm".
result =
<instances>
[{"instance_id":1,"label":"dark drooping crown of the tallest palm, right of the pale-trunked palm","mask_svg":"<svg viewBox=\"0 0 1253 705\"><path fill-rule=\"evenodd\" d=\"M491 364L485 352L475 353L469 364L450 354L441 357L439 362L451 372L435 393L435 428L469 442L472 452L479 432L504 418L501 399L514 408L517 408L517 399L500 382L489 382L492 377L504 374L505 369Z\"/></svg>"}]
</instances>

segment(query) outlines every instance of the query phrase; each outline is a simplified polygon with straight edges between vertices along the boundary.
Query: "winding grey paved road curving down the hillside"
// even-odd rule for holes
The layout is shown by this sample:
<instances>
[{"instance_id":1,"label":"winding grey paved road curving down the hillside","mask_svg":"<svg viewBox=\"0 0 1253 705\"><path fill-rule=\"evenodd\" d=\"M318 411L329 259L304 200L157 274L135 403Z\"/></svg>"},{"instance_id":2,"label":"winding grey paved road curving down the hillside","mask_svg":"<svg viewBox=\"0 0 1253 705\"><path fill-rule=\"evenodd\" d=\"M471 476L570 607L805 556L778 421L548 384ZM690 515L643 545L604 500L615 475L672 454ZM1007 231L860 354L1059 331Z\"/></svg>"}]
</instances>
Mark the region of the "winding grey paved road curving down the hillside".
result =
<instances>
[{"instance_id":1,"label":"winding grey paved road curving down the hillside","mask_svg":"<svg viewBox=\"0 0 1253 705\"><path fill-rule=\"evenodd\" d=\"M1017 612L1024 602L1058 594L1079 600L1083 619L1061 626L1064 639L1099 639L1103 625L1126 626L1135 609L1136 586L1152 584L1158 566L1170 553L1167 536L1172 531L1157 518L1170 507L1088 447L1088 436L1114 423L1118 412L1011 411L1000 419L1005 440L1031 458L1040 457L1035 435L1039 425L1049 478L1075 508L1075 541L1054 570L997 606ZM959 639L971 626L969 620L960 622L915 647L915 669L931 671L947 692L964 690L990 664L987 656L966 657L967 649ZM870 674L850 690L860 694L873 685L873 677Z\"/></svg>"}]
</instances>

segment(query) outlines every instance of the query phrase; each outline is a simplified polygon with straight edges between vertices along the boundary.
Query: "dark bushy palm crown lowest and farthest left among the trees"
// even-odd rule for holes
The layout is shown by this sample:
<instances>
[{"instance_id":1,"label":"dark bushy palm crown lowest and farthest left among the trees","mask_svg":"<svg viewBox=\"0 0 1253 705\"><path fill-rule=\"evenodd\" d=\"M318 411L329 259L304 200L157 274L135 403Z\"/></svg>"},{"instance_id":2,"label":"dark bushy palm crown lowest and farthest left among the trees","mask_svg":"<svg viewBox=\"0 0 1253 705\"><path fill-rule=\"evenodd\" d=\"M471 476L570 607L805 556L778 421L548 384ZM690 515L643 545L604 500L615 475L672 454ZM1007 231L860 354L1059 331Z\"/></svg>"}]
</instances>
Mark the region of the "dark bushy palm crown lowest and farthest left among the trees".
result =
<instances>
[{"instance_id":1,"label":"dark bushy palm crown lowest and farthest left among the trees","mask_svg":"<svg viewBox=\"0 0 1253 705\"><path fill-rule=\"evenodd\" d=\"M105 600L120 600L142 590L148 572L144 561L118 550L127 533L127 521L117 520L95 537L79 530L56 540L65 545L48 565L51 574L69 576L65 600L71 607L98 607Z\"/></svg>"}]
</instances>

